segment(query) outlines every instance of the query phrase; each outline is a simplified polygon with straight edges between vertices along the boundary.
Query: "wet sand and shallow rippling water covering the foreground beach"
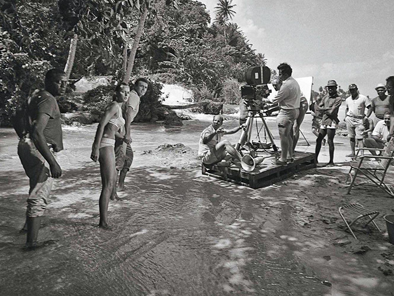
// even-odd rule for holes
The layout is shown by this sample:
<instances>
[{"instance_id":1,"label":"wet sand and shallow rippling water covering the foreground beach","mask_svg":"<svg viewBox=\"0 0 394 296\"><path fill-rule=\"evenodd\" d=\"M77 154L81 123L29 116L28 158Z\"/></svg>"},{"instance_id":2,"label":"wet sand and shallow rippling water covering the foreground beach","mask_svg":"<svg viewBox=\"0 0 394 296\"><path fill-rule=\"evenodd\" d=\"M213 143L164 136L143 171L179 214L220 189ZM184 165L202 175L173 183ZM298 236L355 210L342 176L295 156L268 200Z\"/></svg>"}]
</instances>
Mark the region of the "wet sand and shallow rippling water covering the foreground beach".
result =
<instances>
[{"instance_id":1,"label":"wet sand and shallow rippling water covering the foreground beach","mask_svg":"<svg viewBox=\"0 0 394 296\"><path fill-rule=\"evenodd\" d=\"M268 124L279 144L275 118ZM310 115L298 151L314 151ZM0 291L7 295L393 295L394 246L387 233L356 225L346 232L338 207L359 202L392 214L393 199L372 186L346 195L348 139L336 137L338 167L301 172L263 189L201 175L199 134L136 124L135 150L121 201L110 201L111 231L98 229L100 174L90 161L96 125L65 127L35 251L23 250L28 179L17 137L0 129ZM226 121L225 128L237 122ZM239 134L225 136L236 142ZM158 146L182 143L178 148ZM320 162L328 160L328 146ZM389 180L394 175L390 172ZM389 182L392 183L392 182Z\"/></svg>"}]
</instances>

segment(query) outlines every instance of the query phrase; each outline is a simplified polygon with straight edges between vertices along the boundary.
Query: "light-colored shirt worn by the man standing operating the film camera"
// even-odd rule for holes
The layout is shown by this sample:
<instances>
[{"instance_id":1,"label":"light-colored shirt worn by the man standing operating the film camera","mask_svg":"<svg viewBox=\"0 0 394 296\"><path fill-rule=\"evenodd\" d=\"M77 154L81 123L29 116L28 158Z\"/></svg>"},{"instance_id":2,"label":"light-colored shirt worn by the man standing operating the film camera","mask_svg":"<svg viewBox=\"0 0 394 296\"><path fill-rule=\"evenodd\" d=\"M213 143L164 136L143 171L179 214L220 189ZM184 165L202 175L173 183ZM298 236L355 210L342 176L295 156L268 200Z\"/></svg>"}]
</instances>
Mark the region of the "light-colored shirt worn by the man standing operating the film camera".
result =
<instances>
[{"instance_id":1,"label":"light-colored shirt worn by the man standing operating the film camera","mask_svg":"<svg viewBox=\"0 0 394 296\"><path fill-rule=\"evenodd\" d=\"M301 103L301 89L298 82L290 76L283 81L276 96L269 100L273 104L278 103L282 109L298 109Z\"/></svg>"}]
</instances>

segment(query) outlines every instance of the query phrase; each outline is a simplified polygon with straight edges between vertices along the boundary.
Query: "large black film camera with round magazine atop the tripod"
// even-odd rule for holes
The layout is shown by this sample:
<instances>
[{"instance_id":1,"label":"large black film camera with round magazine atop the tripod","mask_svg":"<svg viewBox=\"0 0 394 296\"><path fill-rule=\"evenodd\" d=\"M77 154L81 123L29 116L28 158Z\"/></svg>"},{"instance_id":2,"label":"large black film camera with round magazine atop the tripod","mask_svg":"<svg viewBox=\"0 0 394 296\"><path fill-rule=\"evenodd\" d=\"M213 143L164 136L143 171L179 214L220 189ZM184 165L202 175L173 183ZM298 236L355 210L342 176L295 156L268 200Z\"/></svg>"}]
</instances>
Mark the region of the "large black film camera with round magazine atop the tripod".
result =
<instances>
[{"instance_id":1,"label":"large black film camera with round magazine atop the tripod","mask_svg":"<svg viewBox=\"0 0 394 296\"><path fill-rule=\"evenodd\" d=\"M271 90L267 83L271 79L271 70L266 66L247 68L245 80L247 85L241 86L241 97L245 100L248 109L259 110L263 108L262 98L267 98Z\"/></svg>"}]
</instances>

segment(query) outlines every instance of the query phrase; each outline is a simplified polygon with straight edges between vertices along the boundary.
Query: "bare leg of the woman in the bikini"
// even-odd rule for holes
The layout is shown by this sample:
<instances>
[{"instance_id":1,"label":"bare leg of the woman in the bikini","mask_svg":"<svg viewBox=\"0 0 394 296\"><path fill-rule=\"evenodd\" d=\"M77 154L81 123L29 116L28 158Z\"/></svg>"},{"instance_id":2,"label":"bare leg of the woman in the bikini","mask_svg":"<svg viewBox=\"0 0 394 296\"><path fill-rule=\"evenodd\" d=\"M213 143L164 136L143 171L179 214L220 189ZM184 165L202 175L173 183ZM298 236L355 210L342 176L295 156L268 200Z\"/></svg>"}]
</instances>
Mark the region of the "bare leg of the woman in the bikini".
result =
<instances>
[{"instance_id":1,"label":"bare leg of the woman in the bikini","mask_svg":"<svg viewBox=\"0 0 394 296\"><path fill-rule=\"evenodd\" d=\"M99 199L99 227L108 229L108 202L116 184L115 152L112 146L100 148L100 174L102 189Z\"/></svg>"}]
</instances>

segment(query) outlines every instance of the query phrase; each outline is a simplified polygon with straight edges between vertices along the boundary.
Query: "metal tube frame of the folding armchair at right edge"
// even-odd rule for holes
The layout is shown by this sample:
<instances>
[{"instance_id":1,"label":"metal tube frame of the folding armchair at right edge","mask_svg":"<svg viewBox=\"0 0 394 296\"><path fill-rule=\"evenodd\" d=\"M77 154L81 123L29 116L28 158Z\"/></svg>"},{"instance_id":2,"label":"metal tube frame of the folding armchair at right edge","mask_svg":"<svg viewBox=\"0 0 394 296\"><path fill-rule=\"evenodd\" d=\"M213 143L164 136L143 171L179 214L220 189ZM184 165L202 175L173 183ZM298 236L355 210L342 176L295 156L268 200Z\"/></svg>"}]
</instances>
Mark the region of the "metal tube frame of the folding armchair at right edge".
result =
<instances>
[{"instance_id":1,"label":"metal tube frame of the folding armchair at right edge","mask_svg":"<svg viewBox=\"0 0 394 296\"><path fill-rule=\"evenodd\" d=\"M379 149L379 148L358 148L357 149L357 154L356 154L355 160L357 160L357 157L359 157L359 159L360 159L359 164L357 167L350 165L350 170L349 170L348 176L346 176L346 180L345 180L345 184L346 184L346 183L348 183L349 178L351 179L351 183L350 183L350 186L348 189L348 194L350 194L351 188L354 186L357 175L359 173L361 173L364 176L366 176L368 179L370 179L370 181L375 183L375 185L381 187L391 197L394 197L394 192L392 191L392 189L384 183L388 167L390 166L391 161L394 159L394 157L393 157L394 150L392 150L392 152L390 152L390 156L380 156L380 155L375 156L375 155L370 155L370 154L359 156L359 152L364 151L364 150L375 150L375 151L381 151L381 152L384 151L384 149ZM387 159L388 161L387 161L386 165L383 166L381 163L379 163L377 161L368 161L369 159L373 159L373 158L381 159L381 160ZM364 159L366 159L370 164L373 164L376 167L375 168L362 167ZM379 167L379 165L381 167ZM355 170L354 176L351 175L351 171L353 169ZM383 175L380 178L376 174L377 171L383 172Z\"/></svg>"}]
</instances>

